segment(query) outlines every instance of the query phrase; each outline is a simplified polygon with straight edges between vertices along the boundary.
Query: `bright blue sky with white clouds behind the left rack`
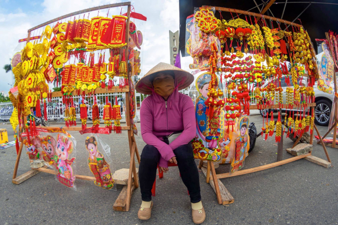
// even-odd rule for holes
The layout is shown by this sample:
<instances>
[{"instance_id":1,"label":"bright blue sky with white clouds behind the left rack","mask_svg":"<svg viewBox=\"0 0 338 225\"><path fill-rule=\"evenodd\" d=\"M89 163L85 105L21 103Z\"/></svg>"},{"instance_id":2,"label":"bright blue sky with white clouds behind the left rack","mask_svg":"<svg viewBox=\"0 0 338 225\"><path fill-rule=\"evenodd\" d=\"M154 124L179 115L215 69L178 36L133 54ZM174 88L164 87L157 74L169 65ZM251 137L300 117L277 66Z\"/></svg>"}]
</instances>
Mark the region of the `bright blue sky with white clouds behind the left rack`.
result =
<instances>
[{"instance_id":1,"label":"bright blue sky with white clouds behind the left rack","mask_svg":"<svg viewBox=\"0 0 338 225\"><path fill-rule=\"evenodd\" d=\"M13 84L11 73L6 74L2 68L10 63L9 59L24 46L19 45L18 39L27 37L28 29L74 11L116 2L122 1L0 0L0 91L9 91L10 84ZM154 0L151 4L149 2L131 0L135 11L147 17L147 21L140 23L138 27L144 37L141 46L142 74L159 62L170 63L169 30L175 32L179 29L178 0ZM120 7L110 9L109 17L120 14L120 11ZM122 8L122 14L126 11L125 6ZM106 16L107 12L108 9L100 10L99 15ZM89 17L96 16L97 13L93 11ZM78 19L78 16L76 18ZM40 35L41 32L42 30L38 29L33 31L32 35Z\"/></svg>"}]
</instances>

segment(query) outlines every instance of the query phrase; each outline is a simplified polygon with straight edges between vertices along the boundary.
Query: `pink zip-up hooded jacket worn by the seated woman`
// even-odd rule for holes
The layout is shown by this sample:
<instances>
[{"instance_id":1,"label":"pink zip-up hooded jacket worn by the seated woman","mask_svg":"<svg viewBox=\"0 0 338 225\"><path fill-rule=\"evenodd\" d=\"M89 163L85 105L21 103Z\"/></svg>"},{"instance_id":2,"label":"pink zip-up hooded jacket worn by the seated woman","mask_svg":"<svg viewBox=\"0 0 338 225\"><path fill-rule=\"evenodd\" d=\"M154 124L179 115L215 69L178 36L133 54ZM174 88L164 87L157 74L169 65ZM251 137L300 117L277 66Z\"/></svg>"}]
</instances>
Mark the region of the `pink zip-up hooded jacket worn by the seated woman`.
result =
<instances>
[{"instance_id":1,"label":"pink zip-up hooded jacket worn by the seated woman","mask_svg":"<svg viewBox=\"0 0 338 225\"><path fill-rule=\"evenodd\" d=\"M176 81L176 79L175 79ZM195 108L189 96L178 92L177 84L167 102L153 91L142 102L141 134L144 142L155 146L160 154L159 166L168 168L168 161L175 154L172 150L189 143L196 135ZM183 132L169 145L162 137L174 131Z\"/></svg>"}]
</instances>

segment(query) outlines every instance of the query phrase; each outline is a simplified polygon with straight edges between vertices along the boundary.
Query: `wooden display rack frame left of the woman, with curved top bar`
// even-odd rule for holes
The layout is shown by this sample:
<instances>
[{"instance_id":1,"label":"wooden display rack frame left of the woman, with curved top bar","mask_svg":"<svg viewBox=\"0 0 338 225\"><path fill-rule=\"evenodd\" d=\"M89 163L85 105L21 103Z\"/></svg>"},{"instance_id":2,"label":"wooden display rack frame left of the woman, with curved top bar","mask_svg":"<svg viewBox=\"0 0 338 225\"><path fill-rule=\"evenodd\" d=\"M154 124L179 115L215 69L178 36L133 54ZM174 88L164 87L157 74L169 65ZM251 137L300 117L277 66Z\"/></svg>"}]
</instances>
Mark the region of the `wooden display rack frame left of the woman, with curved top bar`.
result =
<instances>
[{"instance_id":1,"label":"wooden display rack frame left of the woman, with curved top bar","mask_svg":"<svg viewBox=\"0 0 338 225\"><path fill-rule=\"evenodd\" d=\"M31 31L36 30L40 27L43 27L45 25L48 25L52 22L56 22L59 21L61 19L64 18L68 18L70 16L75 16L81 13L85 13L85 12L90 12L90 11L95 11L95 10L99 10L99 9L103 9L103 8L111 8L111 7L121 7L121 6L128 6L128 10L127 10L127 22L126 22L126 40L128 40L128 35L129 35L129 18L130 18L130 2L121 2L121 3L114 3L114 4L106 4L106 5L102 5L102 6L97 6L97 7L93 7L93 8L87 8L84 10L80 10L77 12L72 12L69 13L67 15L63 15L61 17L52 19L50 21L47 21L45 23L42 23L38 26L35 26L31 29L28 30L28 37L27 37L27 42L29 42L30 40L30 34ZM128 65L128 46L129 43L127 41L127 45L125 48L125 55L126 55L126 64ZM128 68L128 67L127 67ZM129 69L129 68L128 68ZM127 73L128 74L128 73ZM131 77L129 77L128 79L131 79ZM118 196L117 200L115 201L115 204L113 206L113 209L116 211L129 211L130 209L130 200L131 200L131 195L134 191L135 188L139 187L139 183L138 183L138 176L137 176L137 172L136 172L136 166L135 166L135 155L137 158L138 163L140 163L140 155L137 149L137 145L136 145L136 140L135 140L135 136L134 136L134 132L131 129L131 125L130 125L130 103L129 103L129 92L130 92L130 88L129 86L126 86L122 89L120 89L119 87L113 87L111 90L108 89L104 89L104 88L98 88L95 90L95 93L125 93L126 94L126 126L122 126L122 130L127 130L128 131L128 142L129 142L129 150L130 150L130 165L129 165L129 176L128 176L128 185L125 185L120 193L120 195ZM87 94L87 91L85 92L85 94ZM74 91L73 95L77 95L77 92ZM61 92L52 92L52 97L61 97L62 94ZM26 121L26 116L24 116L23 114L20 115L22 118L22 121ZM25 124L25 122L24 122ZM58 128L58 127L50 127L50 128ZM25 127L25 129L27 130L28 127ZM63 127L64 130L67 131L80 131L82 130L82 127ZM20 175L20 176L16 176L17 174L17 169L19 166L19 162L20 162L20 157L21 157L21 153L22 153L22 148L23 148L23 142L21 142L20 147L19 147L19 152L17 154L16 157L16 161L15 161L15 166L14 166L14 172L13 172L13 179L12 179L12 183L13 184L20 184L22 182L24 182L25 180L29 179L30 177L36 175L39 172L45 172L45 173L50 173L50 174L56 174L57 171L55 170L51 170L51 169L47 169L46 167L41 167L41 168L37 168L34 169L32 168L30 171ZM82 176L82 175L76 175L76 179L81 179L81 180L88 180L88 181L95 181L95 177L93 176Z\"/></svg>"}]
</instances>

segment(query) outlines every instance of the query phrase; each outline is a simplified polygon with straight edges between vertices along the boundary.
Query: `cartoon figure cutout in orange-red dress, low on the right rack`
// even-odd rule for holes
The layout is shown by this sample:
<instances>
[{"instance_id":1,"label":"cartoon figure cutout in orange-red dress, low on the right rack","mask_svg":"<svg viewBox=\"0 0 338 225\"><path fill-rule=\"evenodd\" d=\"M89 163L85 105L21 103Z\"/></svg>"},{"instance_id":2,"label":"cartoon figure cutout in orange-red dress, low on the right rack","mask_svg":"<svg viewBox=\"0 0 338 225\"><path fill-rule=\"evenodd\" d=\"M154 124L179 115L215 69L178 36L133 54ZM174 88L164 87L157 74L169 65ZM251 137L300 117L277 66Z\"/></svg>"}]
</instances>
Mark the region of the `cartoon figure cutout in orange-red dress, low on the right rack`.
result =
<instances>
[{"instance_id":1,"label":"cartoon figure cutout in orange-red dress, low on the right rack","mask_svg":"<svg viewBox=\"0 0 338 225\"><path fill-rule=\"evenodd\" d=\"M236 130L233 133L230 149L234 149L234 157L231 161L230 172L233 173L244 167L245 158L249 155L249 117L241 116L236 119Z\"/></svg>"}]
</instances>

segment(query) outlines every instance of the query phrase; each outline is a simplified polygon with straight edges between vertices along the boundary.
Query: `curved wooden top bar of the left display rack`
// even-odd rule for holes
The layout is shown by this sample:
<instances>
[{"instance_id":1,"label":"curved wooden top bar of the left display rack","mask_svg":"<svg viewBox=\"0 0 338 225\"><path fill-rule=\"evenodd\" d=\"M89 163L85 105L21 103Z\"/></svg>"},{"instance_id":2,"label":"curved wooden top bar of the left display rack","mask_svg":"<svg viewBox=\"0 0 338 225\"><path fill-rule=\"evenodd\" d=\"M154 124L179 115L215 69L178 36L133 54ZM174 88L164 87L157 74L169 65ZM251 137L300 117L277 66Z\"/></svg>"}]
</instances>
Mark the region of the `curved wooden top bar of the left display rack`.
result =
<instances>
[{"instance_id":1,"label":"curved wooden top bar of the left display rack","mask_svg":"<svg viewBox=\"0 0 338 225\"><path fill-rule=\"evenodd\" d=\"M79 15L79 14L83 14L83 13L87 13L87 12L91 12L91 11L96 11L96 10L100 10L100 9L104 9L104 8L113 8L113 7L120 7L120 6L127 6L127 5L130 5L130 1L113 3L113 4L104 4L104 5L100 5L100 6L96 6L96 7L92 7L92 8L82 9L80 11L68 13L66 15L63 15L63 16L57 17L55 19L51 19L47 22L41 23L40 25L37 25L37 26L34 26L33 28L30 28L28 30L28 32L36 30L40 27L46 26L46 25L51 24L53 22L60 21L60 20L65 19L65 18L69 18L71 16L75 16L75 15Z\"/></svg>"}]
</instances>

